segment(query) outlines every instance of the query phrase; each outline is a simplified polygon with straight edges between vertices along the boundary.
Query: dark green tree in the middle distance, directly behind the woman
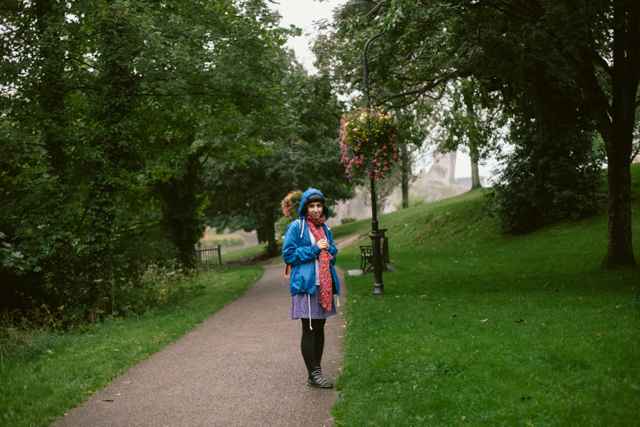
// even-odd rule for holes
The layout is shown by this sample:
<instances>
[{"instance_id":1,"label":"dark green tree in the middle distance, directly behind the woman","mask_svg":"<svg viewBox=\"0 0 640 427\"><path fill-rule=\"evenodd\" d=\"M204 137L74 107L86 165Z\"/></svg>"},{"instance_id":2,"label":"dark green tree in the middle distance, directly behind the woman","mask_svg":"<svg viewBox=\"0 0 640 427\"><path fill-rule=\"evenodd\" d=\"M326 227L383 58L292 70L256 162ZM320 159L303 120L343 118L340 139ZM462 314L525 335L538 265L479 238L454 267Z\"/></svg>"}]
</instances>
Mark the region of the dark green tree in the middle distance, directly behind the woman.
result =
<instances>
[{"instance_id":1,"label":"dark green tree in the middle distance, directly behind the woman","mask_svg":"<svg viewBox=\"0 0 640 427\"><path fill-rule=\"evenodd\" d=\"M272 257L277 255L274 224L282 215L280 201L292 190L318 188L330 206L353 195L338 162L342 106L326 78L308 76L293 64L284 85L288 106L262 131L271 141L265 144L268 151L244 162L210 160L204 178L212 201L205 210L207 224L257 230ZM295 160L289 155L291 141L298 141Z\"/></svg>"}]
</instances>

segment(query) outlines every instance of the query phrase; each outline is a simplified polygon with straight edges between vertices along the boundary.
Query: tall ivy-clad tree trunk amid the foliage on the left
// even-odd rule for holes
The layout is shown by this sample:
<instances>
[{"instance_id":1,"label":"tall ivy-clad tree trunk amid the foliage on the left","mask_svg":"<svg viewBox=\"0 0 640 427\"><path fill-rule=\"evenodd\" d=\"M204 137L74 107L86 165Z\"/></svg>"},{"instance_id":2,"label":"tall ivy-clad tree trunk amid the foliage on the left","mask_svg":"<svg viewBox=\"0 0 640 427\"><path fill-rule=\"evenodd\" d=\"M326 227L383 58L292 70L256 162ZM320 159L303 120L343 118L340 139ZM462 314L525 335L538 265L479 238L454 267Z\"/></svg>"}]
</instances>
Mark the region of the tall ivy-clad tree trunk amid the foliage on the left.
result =
<instances>
[{"instance_id":1,"label":"tall ivy-clad tree trunk amid the foliage on the left","mask_svg":"<svg viewBox=\"0 0 640 427\"><path fill-rule=\"evenodd\" d=\"M98 304L110 294L109 282L119 268L116 220L121 209L120 196L124 185L121 178L123 160L135 158L138 143L135 134L135 109L139 103L137 96L138 77L131 65L136 46L131 38L135 32L125 13L118 6L109 5L106 16L99 26L99 69L93 99L92 114L95 130L89 146L87 158L93 176L87 203L90 242L87 251L91 263L89 280L100 280L93 287L93 295ZM111 282L112 283L112 282Z\"/></svg>"}]
</instances>

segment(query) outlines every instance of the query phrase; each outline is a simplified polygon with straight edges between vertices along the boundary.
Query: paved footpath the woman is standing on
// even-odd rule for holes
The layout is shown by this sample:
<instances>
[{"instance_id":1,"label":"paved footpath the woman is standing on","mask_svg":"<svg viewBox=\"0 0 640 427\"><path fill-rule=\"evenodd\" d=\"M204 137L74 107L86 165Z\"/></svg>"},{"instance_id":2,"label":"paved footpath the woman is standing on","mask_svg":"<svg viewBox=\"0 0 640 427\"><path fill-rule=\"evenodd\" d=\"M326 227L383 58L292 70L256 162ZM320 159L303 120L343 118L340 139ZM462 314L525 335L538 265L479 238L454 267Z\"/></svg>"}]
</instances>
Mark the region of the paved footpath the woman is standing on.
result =
<instances>
[{"instance_id":1,"label":"paved footpath the woman is standing on","mask_svg":"<svg viewBox=\"0 0 640 427\"><path fill-rule=\"evenodd\" d=\"M306 385L300 321L284 264L244 295L136 365L55 425L328 426L336 393ZM344 284L342 271L338 270ZM338 312L342 310L339 308ZM322 368L342 365L344 316L327 320Z\"/></svg>"}]
</instances>

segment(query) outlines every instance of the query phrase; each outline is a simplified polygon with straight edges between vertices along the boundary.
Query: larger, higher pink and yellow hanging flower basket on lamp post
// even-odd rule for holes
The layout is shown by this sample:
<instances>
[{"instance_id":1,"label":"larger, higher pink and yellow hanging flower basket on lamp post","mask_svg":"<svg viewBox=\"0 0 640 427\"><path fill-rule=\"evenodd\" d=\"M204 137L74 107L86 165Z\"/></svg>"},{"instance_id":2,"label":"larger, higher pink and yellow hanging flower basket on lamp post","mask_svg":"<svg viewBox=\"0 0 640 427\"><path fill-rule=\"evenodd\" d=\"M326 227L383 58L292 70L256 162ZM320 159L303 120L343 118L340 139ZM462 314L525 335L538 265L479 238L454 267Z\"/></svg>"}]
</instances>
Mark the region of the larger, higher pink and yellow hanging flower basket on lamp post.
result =
<instances>
[{"instance_id":1,"label":"larger, higher pink and yellow hanging flower basket on lamp post","mask_svg":"<svg viewBox=\"0 0 640 427\"><path fill-rule=\"evenodd\" d=\"M342 116L341 124L340 163L347 178L354 182L354 175L362 173L369 179L386 180L400 159L396 118L380 107L361 108Z\"/></svg>"}]
</instances>

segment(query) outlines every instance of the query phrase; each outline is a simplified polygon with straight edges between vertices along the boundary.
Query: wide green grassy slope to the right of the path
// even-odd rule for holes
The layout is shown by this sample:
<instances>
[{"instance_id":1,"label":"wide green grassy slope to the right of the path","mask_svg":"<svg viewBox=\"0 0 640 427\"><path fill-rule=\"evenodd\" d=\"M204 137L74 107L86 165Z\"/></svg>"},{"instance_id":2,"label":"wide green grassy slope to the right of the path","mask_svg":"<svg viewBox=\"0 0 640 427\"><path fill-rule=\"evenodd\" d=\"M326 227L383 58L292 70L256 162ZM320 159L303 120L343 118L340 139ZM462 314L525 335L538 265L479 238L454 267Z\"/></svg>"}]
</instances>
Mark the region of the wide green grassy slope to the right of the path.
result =
<instances>
[{"instance_id":1,"label":"wide green grassy slope to the right of the path","mask_svg":"<svg viewBox=\"0 0 640 427\"><path fill-rule=\"evenodd\" d=\"M382 297L371 275L347 278L338 424L640 425L640 271L600 270L607 215L501 237L482 203L473 191L381 217L398 272ZM338 261L358 268L357 245Z\"/></svg>"}]
</instances>

